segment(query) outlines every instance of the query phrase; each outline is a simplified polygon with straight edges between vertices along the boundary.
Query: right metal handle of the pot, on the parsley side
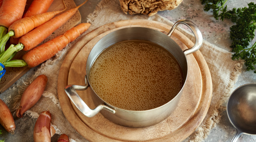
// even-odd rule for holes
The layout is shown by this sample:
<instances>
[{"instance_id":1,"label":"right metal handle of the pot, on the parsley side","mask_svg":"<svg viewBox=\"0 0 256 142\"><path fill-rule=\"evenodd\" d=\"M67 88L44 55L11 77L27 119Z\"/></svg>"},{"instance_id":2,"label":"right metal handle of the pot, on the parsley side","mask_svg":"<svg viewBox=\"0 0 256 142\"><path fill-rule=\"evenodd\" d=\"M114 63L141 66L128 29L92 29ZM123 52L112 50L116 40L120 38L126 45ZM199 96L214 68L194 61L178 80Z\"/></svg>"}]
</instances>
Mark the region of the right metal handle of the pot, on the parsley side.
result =
<instances>
[{"instance_id":1,"label":"right metal handle of the pot, on the parsley side","mask_svg":"<svg viewBox=\"0 0 256 142\"><path fill-rule=\"evenodd\" d=\"M188 28L190 28L192 30L192 32L194 33L194 36L196 37L196 43L193 47L184 50L184 54L188 55L191 54L193 52L196 52L202 45L203 43L203 36L202 33L200 32L199 28L190 20L186 20L186 19L182 19L182 20L178 20L176 23L174 23L174 25L172 26L170 32L167 34L168 36L171 36L172 33L174 32L175 28L179 25L179 24L184 24L186 26L188 26Z\"/></svg>"}]
</instances>

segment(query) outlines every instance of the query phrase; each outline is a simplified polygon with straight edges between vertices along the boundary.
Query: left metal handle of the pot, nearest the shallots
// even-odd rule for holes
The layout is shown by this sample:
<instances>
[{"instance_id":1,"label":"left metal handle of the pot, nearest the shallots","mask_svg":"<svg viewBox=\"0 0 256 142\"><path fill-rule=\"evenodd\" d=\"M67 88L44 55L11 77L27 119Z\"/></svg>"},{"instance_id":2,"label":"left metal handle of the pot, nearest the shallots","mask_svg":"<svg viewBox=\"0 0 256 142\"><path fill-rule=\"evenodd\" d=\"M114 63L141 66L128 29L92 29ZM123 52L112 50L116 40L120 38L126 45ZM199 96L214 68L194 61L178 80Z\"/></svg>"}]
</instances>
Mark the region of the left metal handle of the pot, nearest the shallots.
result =
<instances>
[{"instance_id":1,"label":"left metal handle of the pot, nearest the shallots","mask_svg":"<svg viewBox=\"0 0 256 142\"><path fill-rule=\"evenodd\" d=\"M77 94L77 91L75 90L86 90L89 87L89 84L87 82L87 78L85 75L85 85L67 85L65 87L65 92L67 93L69 99L75 104L75 106L80 110L85 116L87 117L93 117L97 113L100 112L100 110L104 109L111 113L115 113L115 110L112 109L109 106L106 106L104 104L100 104L95 109L90 109L87 104L79 97Z\"/></svg>"}]
</instances>

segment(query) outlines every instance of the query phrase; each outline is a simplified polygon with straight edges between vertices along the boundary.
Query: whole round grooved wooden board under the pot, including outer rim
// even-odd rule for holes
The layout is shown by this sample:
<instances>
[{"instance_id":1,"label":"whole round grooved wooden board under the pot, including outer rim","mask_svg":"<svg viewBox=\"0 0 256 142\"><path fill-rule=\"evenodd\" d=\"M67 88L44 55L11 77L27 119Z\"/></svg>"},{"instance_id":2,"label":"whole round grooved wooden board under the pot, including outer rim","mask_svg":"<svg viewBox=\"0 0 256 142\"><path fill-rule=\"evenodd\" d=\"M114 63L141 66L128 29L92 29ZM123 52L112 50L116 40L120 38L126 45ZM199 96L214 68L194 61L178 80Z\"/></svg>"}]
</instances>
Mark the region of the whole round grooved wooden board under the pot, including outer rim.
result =
<instances>
[{"instance_id":1,"label":"whole round grooved wooden board under the pot, including outer rim","mask_svg":"<svg viewBox=\"0 0 256 142\"><path fill-rule=\"evenodd\" d=\"M72 106L66 96L64 91L66 85L84 85L88 53L102 36L112 30L124 28L124 26L145 26L149 23L152 28L160 27L159 30L165 30L163 27L168 27L162 23L148 20L125 20L110 23L93 30L77 41L63 61L58 79L60 105L71 125L89 141L182 141L194 132L205 117L211 100L212 82L209 69L200 52L196 53L195 58L193 55L187 56L190 65L189 74L194 75L188 75L188 87L186 88L189 89L182 94L179 109L175 110L166 120L154 126L126 128L110 122L101 114L92 118L85 117L76 107ZM165 31L168 32L168 29ZM186 48L178 39L174 37L173 39L182 48ZM78 94L91 108L95 107L90 101L90 91L78 91Z\"/></svg>"}]
</instances>

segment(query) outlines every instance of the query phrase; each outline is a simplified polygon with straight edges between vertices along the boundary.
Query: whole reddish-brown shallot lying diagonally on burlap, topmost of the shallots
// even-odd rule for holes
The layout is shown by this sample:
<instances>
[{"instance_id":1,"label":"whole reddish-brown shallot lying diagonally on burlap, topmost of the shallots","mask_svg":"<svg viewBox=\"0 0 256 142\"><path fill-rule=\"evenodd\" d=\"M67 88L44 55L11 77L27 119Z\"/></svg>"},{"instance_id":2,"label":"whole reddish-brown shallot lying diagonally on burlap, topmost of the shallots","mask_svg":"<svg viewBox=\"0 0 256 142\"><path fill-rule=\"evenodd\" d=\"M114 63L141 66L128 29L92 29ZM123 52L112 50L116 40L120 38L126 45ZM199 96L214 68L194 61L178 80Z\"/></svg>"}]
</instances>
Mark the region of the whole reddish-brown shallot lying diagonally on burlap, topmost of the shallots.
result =
<instances>
[{"instance_id":1,"label":"whole reddish-brown shallot lying diagonally on burlap, topmost of the shallots","mask_svg":"<svg viewBox=\"0 0 256 142\"><path fill-rule=\"evenodd\" d=\"M42 96L47 83L47 76L39 75L35 80L28 85L21 97L21 104L16 112L16 116L21 118L23 114L34 106Z\"/></svg>"}]
</instances>

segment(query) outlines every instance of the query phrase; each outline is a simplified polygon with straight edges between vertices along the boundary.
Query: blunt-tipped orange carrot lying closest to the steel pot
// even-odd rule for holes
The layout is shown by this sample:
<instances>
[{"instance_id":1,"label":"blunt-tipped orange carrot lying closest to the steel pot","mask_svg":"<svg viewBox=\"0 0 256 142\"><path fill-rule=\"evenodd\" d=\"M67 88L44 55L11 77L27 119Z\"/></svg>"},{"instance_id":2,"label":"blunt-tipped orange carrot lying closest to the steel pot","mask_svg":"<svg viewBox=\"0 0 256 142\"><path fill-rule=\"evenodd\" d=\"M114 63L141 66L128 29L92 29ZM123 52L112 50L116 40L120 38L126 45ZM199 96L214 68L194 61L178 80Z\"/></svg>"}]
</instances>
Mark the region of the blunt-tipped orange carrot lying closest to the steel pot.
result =
<instances>
[{"instance_id":1,"label":"blunt-tipped orange carrot lying closest to the steel pot","mask_svg":"<svg viewBox=\"0 0 256 142\"><path fill-rule=\"evenodd\" d=\"M90 23L81 23L78 26L75 26L74 28L66 31L64 35L57 36L51 41L48 41L26 52L22 58L28 64L28 67L35 67L47 59L53 57L69 42L74 41L79 35L81 35L81 33L85 32L90 27L90 25Z\"/></svg>"}]
</instances>

